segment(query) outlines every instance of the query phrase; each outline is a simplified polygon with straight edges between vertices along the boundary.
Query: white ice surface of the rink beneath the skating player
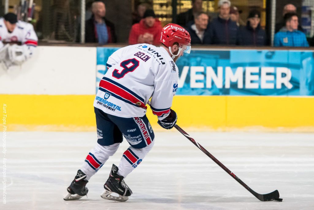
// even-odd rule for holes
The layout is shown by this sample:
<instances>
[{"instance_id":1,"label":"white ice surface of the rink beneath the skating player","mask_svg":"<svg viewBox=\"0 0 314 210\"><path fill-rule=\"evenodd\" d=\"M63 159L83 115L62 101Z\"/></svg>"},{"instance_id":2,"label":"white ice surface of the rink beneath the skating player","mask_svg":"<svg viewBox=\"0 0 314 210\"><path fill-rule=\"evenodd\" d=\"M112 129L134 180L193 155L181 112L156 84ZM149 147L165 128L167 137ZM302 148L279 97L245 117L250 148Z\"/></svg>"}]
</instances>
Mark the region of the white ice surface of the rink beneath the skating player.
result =
<instances>
[{"instance_id":1,"label":"white ice surface of the rink beneath the skating player","mask_svg":"<svg viewBox=\"0 0 314 210\"><path fill-rule=\"evenodd\" d=\"M283 202L257 200L175 130L155 133L154 148L125 179L127 202L100 197L126 141L89 180L88 198L63 201L96 133L8 132L0 209L314 209L314 134L188 133L257 193L279 190Z\"/></svg>"}]
</instances>

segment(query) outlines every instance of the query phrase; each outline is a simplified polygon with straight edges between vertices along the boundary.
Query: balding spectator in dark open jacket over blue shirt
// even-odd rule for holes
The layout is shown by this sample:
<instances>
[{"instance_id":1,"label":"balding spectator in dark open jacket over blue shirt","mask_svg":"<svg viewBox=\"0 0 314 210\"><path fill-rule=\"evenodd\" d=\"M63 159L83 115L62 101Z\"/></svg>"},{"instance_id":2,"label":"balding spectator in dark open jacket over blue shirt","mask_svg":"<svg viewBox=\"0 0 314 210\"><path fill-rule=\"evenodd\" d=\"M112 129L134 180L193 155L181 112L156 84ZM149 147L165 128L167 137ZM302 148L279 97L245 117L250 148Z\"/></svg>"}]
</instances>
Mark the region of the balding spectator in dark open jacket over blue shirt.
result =
<instances>
[{"instance_id":1,"label":"balding spectator in dark open jacket over blue shirt","mask_svg":"<svg viewBox=\"0 0 314 210\"><path fill-rule=\"evenodd\" d=\"M105 18L106 5L102 1L95 1L92 4L92 17L85 21L85 42L116 43L116 33L113 23ZM80 29L79 29L80 31ZM78 33L80 35L80 33ZM79 36L77 41L79 42Z\"/></svg>"}]
</instances>

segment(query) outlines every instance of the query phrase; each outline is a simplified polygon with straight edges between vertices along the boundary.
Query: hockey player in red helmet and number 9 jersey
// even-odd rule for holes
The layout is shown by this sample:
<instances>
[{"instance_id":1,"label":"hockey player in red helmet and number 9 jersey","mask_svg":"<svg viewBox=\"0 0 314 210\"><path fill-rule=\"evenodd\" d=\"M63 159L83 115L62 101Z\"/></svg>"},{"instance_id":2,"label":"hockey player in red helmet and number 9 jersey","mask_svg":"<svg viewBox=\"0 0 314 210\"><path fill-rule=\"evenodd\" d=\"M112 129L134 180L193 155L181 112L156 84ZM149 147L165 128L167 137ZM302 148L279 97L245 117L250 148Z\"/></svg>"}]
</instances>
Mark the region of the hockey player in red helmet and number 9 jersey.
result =
<instances>
[{"instance_id":1,"label":"hockey player in red helmet and number 9 jersey","mask_svg":"<svg viewBox=\"0 0 314 210\"><path fill-rule=\"evenodd\" d=\"M119 166L112 165L101 197L127 201L132 191L124 179L154 145L154 132L146 117L149 99L161 127L171 129L176 124L177 115L171 109L179 77L175 61L183 52L190 53L191 37L181 26L168 24L161 32L160 42L160 47L130 45L109 57L108 71L94 101L97 144L78 170L64 200L87 195L88 180L116 152L124 136L130 147L123 153Z\"/></svg>"}]
</instances>

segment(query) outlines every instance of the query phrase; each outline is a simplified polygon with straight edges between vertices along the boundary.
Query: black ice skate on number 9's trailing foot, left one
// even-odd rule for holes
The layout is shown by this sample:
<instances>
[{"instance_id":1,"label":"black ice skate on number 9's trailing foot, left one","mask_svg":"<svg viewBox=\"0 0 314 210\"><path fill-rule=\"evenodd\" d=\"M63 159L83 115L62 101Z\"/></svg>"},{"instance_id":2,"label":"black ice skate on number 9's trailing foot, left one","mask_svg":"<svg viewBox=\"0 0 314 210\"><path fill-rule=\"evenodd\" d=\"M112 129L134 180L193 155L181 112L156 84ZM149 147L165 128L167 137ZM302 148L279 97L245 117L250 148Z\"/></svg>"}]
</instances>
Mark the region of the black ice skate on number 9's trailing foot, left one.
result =
<instances>
[{"instance_id":1,"label":"black ice skate on number 9's trailing foot, left one","mask_svg":"<svg viewBox=\"0 0 314 210\"><path fill-rule=\"evenodd\" d=\"M88 193L88 189L87 187L85 187L85 185L88 183L88 181L84 181L85 178L86 174L83 173L81 170L78 170L78 173L75 176L74 180L67 188L69 193L63 198L63 200L76 200L80 199L83 196L86 196Z\"/></svg>"}]
</instances>

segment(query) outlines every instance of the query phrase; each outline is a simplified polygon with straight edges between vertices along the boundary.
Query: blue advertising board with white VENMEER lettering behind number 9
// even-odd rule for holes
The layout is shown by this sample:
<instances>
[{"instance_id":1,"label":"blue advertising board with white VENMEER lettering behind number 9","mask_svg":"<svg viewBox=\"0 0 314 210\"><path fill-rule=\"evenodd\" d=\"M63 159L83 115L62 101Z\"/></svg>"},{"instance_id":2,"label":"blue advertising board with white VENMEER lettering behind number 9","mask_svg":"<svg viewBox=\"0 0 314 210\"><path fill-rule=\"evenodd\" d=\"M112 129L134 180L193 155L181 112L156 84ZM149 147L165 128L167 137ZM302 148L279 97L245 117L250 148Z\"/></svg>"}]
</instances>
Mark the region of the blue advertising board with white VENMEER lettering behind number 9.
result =
<instances>
[{"instance_id":1,"label":"blue advertising board with white VENMEER lettering behind number 9","mask_svg":"<svg viewBox=\"0 0 314 210\"><path fill-rule=\"evenodd\" d=\"M118 48L97 48L97 84ZM314 53L299 50L192 50L176 61L176 95L314 95Z\"/></svg>"}]
</instances>

